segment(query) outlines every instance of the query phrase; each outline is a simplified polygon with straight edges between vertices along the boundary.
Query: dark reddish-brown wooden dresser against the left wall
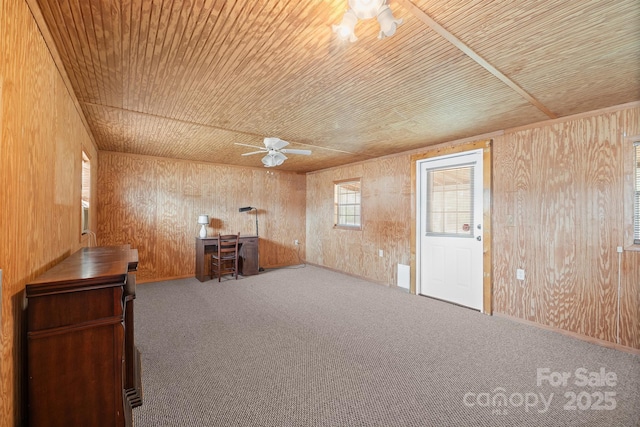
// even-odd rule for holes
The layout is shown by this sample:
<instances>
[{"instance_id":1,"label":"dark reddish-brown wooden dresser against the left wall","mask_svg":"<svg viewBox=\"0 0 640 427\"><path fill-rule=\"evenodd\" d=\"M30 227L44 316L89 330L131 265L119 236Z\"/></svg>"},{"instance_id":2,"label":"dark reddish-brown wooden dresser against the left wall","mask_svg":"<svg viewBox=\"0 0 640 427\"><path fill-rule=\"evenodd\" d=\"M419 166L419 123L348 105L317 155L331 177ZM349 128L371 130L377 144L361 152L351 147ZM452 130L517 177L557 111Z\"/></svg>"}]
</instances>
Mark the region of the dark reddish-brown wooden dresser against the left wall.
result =
<instances>
[{"instance_id":1,"label":"dark reddish-brown wooden dresser against the left wall","mask_svg":"<svg viewBox=\"0 0 640 427\"><path fill-rule=\"evenodd\" d=\"M83 248L27 284L29 425L133 425L137 267L128 245Z\"/></svg>"}]
</instances>

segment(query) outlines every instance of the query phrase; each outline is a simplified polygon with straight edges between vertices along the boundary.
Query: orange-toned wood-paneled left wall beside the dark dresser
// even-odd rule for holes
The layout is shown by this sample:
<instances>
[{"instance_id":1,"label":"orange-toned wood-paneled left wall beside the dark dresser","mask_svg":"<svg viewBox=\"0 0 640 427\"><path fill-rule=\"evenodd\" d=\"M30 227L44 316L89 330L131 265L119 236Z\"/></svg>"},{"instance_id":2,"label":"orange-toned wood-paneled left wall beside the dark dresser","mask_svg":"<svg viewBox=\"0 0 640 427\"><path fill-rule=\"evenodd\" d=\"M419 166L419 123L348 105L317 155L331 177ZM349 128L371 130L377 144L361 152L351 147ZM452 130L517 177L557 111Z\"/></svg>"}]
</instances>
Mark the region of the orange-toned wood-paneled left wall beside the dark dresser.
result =
<instances>
[{"instance_id":1,"label":"orange-toned wood-paneled left wall beside the dark dresser","mask_svg":"<svg viewBox=\"0 0 640 427\"><path fill-rule=\"evenodd\" d=\"M25 285L87 244L81 153L97 151L74 101L27 4L0 0L0 427L26 423Z\"/></svg>"}]
</instances>

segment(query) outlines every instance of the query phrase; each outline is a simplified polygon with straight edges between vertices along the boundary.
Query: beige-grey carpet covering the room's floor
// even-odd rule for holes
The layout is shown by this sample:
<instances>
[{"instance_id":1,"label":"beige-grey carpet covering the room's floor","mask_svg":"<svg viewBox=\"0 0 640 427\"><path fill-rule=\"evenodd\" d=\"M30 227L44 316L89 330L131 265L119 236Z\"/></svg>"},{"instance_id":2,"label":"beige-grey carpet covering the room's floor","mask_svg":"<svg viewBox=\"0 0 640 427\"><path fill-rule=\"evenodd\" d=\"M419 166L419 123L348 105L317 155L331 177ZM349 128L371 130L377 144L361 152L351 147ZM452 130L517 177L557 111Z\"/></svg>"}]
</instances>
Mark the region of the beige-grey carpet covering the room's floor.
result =
<instances>
[{"instance_id":1,"label":"beige-grey carpet covering the room's floor","mask_svg":"<svg viewBox=\"0 0 640 427\"><path fill-rule=\"evenodd\" d=\"M141 284L135 317L137 427L640 425L638 356L318 267Z\"/></svg>"}]
</instances>

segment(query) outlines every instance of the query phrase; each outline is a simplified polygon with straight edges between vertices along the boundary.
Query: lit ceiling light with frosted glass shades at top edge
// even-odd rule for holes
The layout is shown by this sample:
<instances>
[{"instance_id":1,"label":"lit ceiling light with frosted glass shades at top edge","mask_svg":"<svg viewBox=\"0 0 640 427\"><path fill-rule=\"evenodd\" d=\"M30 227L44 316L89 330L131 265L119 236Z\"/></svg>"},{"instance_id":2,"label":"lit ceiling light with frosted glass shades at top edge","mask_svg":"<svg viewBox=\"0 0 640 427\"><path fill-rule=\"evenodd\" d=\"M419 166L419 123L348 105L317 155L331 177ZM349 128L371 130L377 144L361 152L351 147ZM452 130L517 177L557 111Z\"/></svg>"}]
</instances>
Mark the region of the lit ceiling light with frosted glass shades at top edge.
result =
<instances>
[{"instance_id":1,"label":"lit ceiling light with frosted glass shades at top edge","mask_svg":"<svg viewBox=\"0 0 640 427\"><path fill-rule=\"evenodd\" d=\"M396 28L402 24L402 19L395 19L393 12L387 6L387 0L348 0L349 9L344 13L340 25L333 26L333 32L342 40L355 42L358 38L354 29L358 19L378 18L380 33L378 38L391 37L396 33Z\"/></svg>"}]
</instances>

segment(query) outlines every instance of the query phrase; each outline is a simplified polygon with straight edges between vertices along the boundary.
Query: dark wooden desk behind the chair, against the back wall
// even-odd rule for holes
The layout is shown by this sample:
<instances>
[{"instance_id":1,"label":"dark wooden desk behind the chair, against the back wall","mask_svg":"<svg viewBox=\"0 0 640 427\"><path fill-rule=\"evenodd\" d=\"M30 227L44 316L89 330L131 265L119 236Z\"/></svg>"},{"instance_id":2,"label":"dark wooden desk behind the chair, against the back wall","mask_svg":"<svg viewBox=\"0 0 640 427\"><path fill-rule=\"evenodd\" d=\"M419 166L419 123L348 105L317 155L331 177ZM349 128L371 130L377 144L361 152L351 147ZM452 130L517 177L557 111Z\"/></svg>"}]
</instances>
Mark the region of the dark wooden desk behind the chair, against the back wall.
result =
<instances>
[{"instance_id":1,"label":"dark wooden desk behind the chair, against the back wall","mask_svg":"<svg viewBox=\"0 0 640 427\"><path fill-rule=\"evenodd\" d=\"M196 278L201 282L211 278L211 265L207 254L218 246L218 237L196 237ZM258 236L240 236L238 270L243 276L258 274Z\"/></svg>"}]
</instances>

